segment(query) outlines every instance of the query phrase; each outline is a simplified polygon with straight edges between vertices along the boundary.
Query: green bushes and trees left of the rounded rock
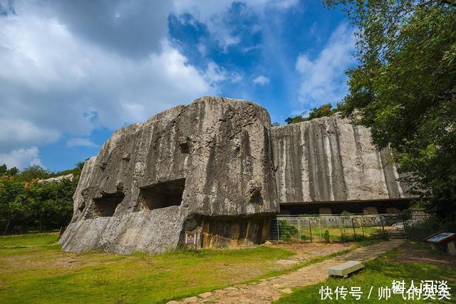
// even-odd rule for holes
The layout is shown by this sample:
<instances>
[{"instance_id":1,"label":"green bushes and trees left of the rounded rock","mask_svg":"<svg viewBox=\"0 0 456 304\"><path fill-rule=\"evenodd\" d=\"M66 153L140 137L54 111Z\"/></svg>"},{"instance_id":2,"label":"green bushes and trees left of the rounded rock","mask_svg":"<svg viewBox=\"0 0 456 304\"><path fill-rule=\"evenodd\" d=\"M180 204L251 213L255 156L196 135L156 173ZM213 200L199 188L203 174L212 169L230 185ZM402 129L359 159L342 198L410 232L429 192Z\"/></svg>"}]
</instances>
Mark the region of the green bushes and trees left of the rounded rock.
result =
<instances>
[{"instance_id":1,"label":"green bushes and trees left of the rounded rock","mask_svg":"<svg viewBox=\"0 0 456 304\"><path fill-rule=\"evenodd\" d=\"M83 162L64 172L49 172L39 166L23 171L0 166L0 232L58 229L66 226L73 215L73 194ZM73 180L38 182L66 174Z\"/></svg>"}]
</instances>

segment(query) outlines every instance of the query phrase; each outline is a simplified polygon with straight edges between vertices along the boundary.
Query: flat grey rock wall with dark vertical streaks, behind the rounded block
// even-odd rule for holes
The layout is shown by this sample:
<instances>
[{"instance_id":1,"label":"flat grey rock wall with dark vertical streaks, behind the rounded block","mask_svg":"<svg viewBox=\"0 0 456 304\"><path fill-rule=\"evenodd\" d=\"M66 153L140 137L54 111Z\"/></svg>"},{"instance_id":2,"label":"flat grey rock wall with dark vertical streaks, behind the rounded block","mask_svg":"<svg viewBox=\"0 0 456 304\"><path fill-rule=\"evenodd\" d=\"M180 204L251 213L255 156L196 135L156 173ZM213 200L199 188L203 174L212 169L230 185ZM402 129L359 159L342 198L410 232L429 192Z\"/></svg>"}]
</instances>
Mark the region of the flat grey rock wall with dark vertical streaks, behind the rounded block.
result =
<instances>
[{"instance_id":1,"label":"flat grey rock wall with dark vertical streaks, behind the rounded block","mask_svg":"<svg viewBox=\"0 0 456 304\"><path fill-rule=\"evenodd\" d=\"M272 137L281 203L410 197L390 150L376 150L366 127L338 114L273 127Z\"/></svg>"}]
</instances>

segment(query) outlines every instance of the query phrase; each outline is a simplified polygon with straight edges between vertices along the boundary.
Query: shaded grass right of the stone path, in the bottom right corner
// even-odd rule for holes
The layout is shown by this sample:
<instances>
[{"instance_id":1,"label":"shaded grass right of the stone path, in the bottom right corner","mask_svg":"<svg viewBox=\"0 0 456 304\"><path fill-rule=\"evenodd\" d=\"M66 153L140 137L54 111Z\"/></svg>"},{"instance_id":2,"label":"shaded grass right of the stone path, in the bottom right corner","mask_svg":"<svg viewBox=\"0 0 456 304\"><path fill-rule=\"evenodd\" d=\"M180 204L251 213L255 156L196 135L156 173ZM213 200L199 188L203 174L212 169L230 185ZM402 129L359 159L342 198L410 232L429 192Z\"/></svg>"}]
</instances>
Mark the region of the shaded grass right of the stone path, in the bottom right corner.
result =
<instances>
[{"instance_id":1,"label":"shaded grass right of the stone path, in the bottom right corner","mask_svg":"<svg viewBox=\"0 0 456 304\"><path fill-rule=\"evenodd\" d=\"M423 280L447 281L447 285L452 288L451 302L456 302L456 258L445 253L431 251L429 246L423 243L405 243L400 248L385 253L383 256L366 263L366 269L361 273L349 278L328 278L325 282L309 285L304 288L295 288L294 293L284 296L277 303L385 303L378 300L378 288L389 286L393 280L404 280L406 289L410 286L410 281L415 281L420 285ZM328 286L331 290L341 286L348 287L360 286L363 291L361 300L355 300L350 294L346 300L321 300L318 293L321 286ZM373 286L370 300L367 299L369 290ZM404 303L402 295L392 295L388 303ZM417 303L430 303L430 300L416 300ZM437 302L437 301L435 301ZM450 303L450 301L447 301ZM415 301L413 301L415 303Z\"/></svg>"}]
</instances>

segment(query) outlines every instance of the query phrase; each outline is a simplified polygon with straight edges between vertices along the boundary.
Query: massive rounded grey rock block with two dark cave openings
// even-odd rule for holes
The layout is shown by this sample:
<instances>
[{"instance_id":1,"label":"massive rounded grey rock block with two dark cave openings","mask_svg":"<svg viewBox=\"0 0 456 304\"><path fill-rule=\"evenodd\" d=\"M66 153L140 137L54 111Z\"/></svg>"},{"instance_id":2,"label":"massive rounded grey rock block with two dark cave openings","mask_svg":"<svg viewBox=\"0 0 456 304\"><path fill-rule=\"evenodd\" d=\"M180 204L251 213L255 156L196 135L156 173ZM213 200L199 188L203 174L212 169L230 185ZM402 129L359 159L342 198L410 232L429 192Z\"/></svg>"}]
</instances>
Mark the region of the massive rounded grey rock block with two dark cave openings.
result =
<instances>
[{"instance_id":1,"label":"massive rounded grey rock block with two dark cave openings","mask_svg":"<svg viewBox=\"0 0 456 304\"><path fill-rule=\"evenodd\" d=\"M123 127L88 159L64 251L261 243L279 211L268 112L205 97Z\"/></svg>"}]
</instances>

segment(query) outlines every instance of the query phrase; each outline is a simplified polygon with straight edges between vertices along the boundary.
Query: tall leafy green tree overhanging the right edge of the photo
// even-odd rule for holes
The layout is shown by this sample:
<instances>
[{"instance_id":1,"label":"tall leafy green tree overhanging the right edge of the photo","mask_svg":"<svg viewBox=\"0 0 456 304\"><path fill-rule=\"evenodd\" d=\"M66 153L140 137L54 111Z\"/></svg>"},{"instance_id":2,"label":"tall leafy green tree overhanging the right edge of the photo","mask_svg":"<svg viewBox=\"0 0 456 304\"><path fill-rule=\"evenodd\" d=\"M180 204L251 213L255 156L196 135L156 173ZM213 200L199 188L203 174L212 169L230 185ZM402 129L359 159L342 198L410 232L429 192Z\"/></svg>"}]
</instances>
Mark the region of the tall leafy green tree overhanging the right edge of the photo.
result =
<instances>
[{"instance_id":1,"label":"tall leafy green tree overhanging the right edge of the photo","mask_svg":"<svg viewBox=\"0 0 456 304\"><path fill-rule=\"evenodd\" d=\"M326 0L356 33L360 65L338 105L392 147L413 194L441 218L456 216L456 1Z\"/></svg>"}]
</instances>

